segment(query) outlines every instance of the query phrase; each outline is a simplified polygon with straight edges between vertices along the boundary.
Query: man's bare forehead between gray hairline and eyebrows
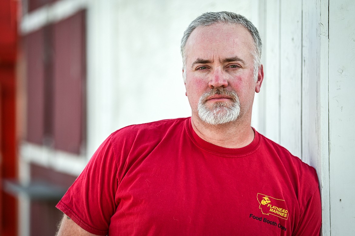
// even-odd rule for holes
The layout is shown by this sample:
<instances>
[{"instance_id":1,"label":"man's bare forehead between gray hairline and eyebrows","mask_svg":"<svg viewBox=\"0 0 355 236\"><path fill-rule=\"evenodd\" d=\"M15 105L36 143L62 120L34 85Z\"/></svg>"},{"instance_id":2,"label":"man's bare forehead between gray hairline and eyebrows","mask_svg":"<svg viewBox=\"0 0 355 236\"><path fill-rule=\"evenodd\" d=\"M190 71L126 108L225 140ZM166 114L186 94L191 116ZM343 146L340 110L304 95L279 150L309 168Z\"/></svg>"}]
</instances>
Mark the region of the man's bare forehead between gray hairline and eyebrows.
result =
<instances>
[{"instance_id":1,"label":"man's bare forehead between gray hairline and eyebrows","mask_svg":"<svg viewBox=\"0 0 355 236\"><path fill-rule=\"evenodd\" d=\"M248 57L254 48L253 38L244 26L216 23L194 29L187 39L185 52L187 60L190 57Z\"/></svg>"}]
</instances>

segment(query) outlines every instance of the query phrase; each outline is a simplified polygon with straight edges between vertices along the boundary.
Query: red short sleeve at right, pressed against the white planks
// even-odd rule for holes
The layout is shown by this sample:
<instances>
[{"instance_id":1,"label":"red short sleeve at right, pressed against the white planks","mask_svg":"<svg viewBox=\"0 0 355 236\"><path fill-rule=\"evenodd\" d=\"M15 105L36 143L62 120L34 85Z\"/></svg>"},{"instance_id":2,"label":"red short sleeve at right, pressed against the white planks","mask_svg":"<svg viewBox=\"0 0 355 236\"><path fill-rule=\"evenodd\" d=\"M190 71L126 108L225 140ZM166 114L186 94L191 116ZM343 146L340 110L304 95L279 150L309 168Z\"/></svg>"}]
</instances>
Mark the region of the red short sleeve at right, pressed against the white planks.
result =
<instances>
[{"instance_id":1,"label":"red short sleeve at right, pressed against the white planks","mask_svg":"<svg viewBox=\"0 0 355 236\"><path fill-rule=\"evenodd\" d=\"M300 221L292 235L319 236L322 225L320 191L317 189L301 211Z\"/></svg>"}]
</instances>

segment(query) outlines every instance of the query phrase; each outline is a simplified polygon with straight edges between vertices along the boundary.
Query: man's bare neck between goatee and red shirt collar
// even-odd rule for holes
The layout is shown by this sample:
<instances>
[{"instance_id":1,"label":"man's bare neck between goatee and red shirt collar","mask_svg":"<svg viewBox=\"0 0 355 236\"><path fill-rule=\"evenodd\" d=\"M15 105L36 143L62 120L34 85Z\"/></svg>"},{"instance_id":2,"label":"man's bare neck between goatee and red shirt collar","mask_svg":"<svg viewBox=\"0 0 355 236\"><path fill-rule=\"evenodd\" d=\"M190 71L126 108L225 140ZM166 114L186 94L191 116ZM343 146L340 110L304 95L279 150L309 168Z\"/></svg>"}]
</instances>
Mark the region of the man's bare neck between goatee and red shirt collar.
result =
<instances>
[{"instance_id":1,"label":"man's bare neck between goatee and red shirt collar","mask_svg":"<svg viewBox=\"0 0 355 236\"><path fill-rule=\"evenodd\" d=\"M225 148L242 148L253 141L255 133L250 127L250 120L238 119L222 125L209 125L201 119L191 116L192 128L200 138Z\"/></svg>"}]
</instances>

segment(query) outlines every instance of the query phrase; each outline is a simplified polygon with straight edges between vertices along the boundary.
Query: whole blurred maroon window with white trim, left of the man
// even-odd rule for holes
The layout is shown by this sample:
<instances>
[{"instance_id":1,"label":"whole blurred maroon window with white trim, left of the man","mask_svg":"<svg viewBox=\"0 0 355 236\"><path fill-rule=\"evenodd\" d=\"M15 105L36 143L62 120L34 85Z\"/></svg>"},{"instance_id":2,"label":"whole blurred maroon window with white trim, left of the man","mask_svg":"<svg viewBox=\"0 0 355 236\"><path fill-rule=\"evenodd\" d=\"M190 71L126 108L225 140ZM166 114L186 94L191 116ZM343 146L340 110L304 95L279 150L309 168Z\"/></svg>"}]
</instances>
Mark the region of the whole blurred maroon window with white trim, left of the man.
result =
<instances>
[{"instance_id":1,"label":"whole blurred maroon window with white trim, left of the man","mask_svg":"<svg viewBox=\"0 0 355 236\"><path fill-rule=\"evenodd\" d=\"M27 141L80 154L86 137L85 12L25 38Z\"/></svg>"}]
</instances>

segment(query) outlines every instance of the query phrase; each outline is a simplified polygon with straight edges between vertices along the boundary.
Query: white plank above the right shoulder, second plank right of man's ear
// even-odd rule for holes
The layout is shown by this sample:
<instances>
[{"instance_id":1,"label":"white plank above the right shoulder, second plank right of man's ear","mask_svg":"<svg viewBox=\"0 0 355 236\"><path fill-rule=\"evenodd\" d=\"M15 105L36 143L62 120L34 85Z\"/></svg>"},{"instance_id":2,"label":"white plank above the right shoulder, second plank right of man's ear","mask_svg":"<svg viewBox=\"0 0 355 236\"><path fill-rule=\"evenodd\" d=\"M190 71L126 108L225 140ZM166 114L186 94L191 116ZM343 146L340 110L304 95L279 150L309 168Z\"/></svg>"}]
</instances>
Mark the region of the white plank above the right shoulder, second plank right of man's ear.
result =
<instances>
[{"instance_id":1,"label":"white plank above the right shoulder, second plank right of man's ear","mask_svg":"<svg viewBox=\"0 0 355 236\"><path fill-rule=\"evenodd\" d=\"M301 157L302 1L280 6L280 142Z\"/></svg>"}]
</instances>

